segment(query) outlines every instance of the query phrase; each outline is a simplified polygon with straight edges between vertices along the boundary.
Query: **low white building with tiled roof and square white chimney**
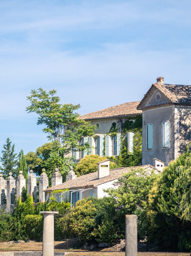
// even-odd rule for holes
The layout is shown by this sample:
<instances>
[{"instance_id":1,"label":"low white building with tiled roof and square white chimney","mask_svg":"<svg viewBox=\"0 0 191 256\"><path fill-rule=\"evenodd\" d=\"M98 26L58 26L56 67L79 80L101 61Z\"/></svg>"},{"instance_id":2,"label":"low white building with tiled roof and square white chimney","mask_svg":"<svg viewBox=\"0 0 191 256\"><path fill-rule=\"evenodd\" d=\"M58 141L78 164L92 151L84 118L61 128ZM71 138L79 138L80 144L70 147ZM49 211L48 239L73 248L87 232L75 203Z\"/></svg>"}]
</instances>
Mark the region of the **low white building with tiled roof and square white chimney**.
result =
<instances>
[{"instance_id":1,"label":"low white building with tiled roof and square white chimney","mask_svg":"<svg viewBox=\"0 0 191 256\"><path fill-rule=\"evenodd\" d=\"M122 167L110 170L110 161L107 159L98 163L98 171L85 174L80 177L76 177L74 171L70 171L66 177L66 182L47 188L44 191L47 193L48 198L50 197L51 192L67 189L68 191L57 194L55 193L54 196L58 202L70 201L72 207L82 198L87 198L89 196L102 198L107 196L104 189L113 188L113 183L123 174L132 170L132 168L144 168L148 171L155 170L156 173L159 172L157 168L152 165Z\"/></svg>"}]
</instances>

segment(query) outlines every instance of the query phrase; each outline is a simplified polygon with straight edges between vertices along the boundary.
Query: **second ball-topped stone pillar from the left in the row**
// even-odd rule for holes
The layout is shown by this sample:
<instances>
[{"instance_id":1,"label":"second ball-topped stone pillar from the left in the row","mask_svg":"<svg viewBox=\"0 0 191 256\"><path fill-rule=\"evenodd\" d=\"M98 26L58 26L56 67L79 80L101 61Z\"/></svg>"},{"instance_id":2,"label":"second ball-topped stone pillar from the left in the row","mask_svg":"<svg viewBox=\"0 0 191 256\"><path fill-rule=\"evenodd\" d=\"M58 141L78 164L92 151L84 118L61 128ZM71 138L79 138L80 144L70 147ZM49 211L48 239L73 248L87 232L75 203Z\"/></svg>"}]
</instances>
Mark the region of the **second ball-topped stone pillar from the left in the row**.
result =
<instances>
[{"instance_id":1,"label":"second ball-topped stone pillar from the left in the row","mask_svg":"<svg viewBox=\"0 0 191 256\"><path fill-rule=\"evenodd\" d=\"M7 178L7 209L10 209L10 204L15 204L15 187L15 180L10 172Z\"/></svg>"}]
</instances>

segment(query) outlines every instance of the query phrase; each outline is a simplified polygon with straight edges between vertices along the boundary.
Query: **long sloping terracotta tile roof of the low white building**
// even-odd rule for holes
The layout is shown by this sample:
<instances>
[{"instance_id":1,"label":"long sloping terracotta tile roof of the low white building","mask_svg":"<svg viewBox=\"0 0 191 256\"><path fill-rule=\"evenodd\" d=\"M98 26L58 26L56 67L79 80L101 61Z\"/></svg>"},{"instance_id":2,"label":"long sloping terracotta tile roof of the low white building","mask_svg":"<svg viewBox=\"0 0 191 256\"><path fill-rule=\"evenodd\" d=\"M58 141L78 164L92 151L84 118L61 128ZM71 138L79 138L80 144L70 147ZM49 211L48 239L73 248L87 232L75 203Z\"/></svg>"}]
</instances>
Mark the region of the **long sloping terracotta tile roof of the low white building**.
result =
<instances>
[{"instance_id":1,"label":"long sloping terracotta tile roof of the low white building","mask_svg":"<svg viewBox=\"0 0 191 256\"><path fill-rule=\"evenodd\" d=\"M156 170L155 167L153 167L152 165L141 165L141 166L133 166L133 167L122 167L122 168L117 168L117 169L113 169L110 170L110 175L103 177L101 179L98 179L98 172L92 172L89 174L85 174L82 175L80 177L77 177L73 180L68 180L60 185L54 186L54 187L50 187L47 189L44 189L44 191L46 192L51 192L57 189L86 189L86 188L92 188L92 187L96 187L100 184L115 180L119 177L121 177L122 174L125 174L127 172L129 172L132 168L152 168L154 170Z\"/></svg>"}]
</instances>

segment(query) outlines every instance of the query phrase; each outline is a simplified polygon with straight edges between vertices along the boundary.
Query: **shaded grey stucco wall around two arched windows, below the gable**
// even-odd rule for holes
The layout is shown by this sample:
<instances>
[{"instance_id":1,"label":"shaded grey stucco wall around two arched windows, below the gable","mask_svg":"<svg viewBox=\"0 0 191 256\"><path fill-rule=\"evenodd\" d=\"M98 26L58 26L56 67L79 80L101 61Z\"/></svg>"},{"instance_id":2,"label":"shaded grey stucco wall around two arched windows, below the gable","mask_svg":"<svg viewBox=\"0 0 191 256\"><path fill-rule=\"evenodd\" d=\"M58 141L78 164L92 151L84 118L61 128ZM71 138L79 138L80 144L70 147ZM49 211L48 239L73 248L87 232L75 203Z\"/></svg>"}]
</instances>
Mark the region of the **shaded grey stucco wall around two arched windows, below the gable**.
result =
<instances>
[{"instance_id":1,"label":"shaded grey stucco wall around two arched windows, below the gable","mask_svg":"<svg viewBox=\"0 0 191 256\"><path fill-rule=\"evenodd\" d=\"M175 107L166 106L143 111L143 145L142 164L153 165L153 158L157 158L165 165L175 159L174 128L175 128ZM170 121L170 147L162 147L162 123ZM147 150L147 124L153 124L153 149Z\"/></svg>"}]
</instances>

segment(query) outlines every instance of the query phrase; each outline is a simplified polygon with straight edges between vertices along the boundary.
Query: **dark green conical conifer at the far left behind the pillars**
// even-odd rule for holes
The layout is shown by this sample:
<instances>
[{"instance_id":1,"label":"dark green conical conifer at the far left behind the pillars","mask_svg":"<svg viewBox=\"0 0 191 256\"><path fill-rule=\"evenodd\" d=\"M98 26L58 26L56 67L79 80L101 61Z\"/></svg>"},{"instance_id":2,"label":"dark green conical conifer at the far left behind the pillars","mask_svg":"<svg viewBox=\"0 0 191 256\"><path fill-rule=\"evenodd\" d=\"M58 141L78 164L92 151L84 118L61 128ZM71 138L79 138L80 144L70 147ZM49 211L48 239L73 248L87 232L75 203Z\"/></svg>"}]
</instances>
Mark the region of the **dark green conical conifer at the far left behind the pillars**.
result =
<instances>
[{"instance_id":1,"label":"dark green conical conifer at the far left behind the pillars","mask_svg":"<svg viewBox=\"0 0 191 256\"><path fill-rule=\"evenodd\" d=\"M13 177L17 174L17 169L15 168L18 163L18 157L15 153L15 144L11 145L12 141L7 138L6 144L4 144L4 150L1 151L2 156L0 160L2 162L1 171L4 174L4 178L7 178L9 172L13 173Z\"/></svg>"}]
</instances>

